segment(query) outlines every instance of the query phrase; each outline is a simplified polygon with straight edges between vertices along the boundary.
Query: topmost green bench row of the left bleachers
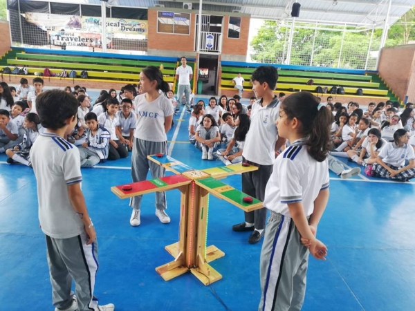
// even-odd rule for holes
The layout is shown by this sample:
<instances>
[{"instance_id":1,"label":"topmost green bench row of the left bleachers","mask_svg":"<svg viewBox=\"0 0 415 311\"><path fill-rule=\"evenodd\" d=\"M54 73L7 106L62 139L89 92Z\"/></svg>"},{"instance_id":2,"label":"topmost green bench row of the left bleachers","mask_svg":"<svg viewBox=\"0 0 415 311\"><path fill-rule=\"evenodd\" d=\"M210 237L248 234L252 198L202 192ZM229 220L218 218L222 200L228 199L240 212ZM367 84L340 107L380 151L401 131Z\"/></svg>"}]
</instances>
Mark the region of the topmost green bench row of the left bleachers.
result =
<instances>
[{"instance_id":1,"label":"topmost green bench row of the left bleachers","mask_svg":"<svg viewBox=\"0 0 415 311\"><path fill-rule=\"evenodd\" d=\"M21 59L45 59L56 60L64 62L79 62L79 63L98 63L98 64L119 64L119 65L136 65L136 66L160 66L163 64L164 68L176 68L176 62L148 62L136 59L116 59L116 58L100 58L100 57L77 57L65 55L44 55L44 54L29 54L17 53L17 58Z\"/></svg>"}]
</instances>

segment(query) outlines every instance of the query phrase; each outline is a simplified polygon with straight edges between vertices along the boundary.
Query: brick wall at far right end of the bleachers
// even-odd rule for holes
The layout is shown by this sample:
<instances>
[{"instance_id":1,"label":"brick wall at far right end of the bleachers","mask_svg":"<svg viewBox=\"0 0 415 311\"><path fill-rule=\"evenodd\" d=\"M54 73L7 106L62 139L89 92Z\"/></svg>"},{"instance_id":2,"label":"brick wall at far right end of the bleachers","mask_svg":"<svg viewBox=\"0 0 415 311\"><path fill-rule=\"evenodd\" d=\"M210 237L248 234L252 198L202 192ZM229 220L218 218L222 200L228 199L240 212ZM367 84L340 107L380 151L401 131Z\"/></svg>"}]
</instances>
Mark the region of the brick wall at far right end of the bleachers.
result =
<instances>
[{"instance_id":1,"label":"brick wall at far right end of the bleachers","mask_svg":"<svg viewBox=\"0 0 415 311\"><path fill-rule=\"evenodd\" d=\"M400 100L415 101L415 44L382 48L378 70Z\"/></svg>"}]
</instances>

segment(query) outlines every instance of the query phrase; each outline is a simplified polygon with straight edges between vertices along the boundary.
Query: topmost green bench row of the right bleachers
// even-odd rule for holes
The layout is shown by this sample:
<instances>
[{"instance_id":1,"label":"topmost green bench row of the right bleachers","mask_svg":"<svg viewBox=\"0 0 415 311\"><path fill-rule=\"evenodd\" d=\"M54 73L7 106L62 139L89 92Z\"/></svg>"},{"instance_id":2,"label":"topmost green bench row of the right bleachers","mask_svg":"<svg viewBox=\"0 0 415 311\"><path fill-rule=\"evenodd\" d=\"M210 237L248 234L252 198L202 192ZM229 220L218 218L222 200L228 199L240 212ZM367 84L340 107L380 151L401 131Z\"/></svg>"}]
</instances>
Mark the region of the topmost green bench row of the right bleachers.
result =
<instances>
[{"instance_id":1,"label":"topmost green bench row of the right bleachers","mask_svg":"<svg viewBox=\"0 0 415 311\"><path fill-rule=\"evenodd\" d=\"M222 66L222 73L246 73L248 79L254 72L255 68L241 68L241 67L227 67ZM334 79L347 79L347 80L362 80L370 81L371 77L367 75L347 75L343 73L316 73L314 71L299 71L299 70L278 70L278 75L292 75L295 77L322 77L322 78L334 78ZM244 75L243 75L244 76Z\"/></svg>"}]
</instances>

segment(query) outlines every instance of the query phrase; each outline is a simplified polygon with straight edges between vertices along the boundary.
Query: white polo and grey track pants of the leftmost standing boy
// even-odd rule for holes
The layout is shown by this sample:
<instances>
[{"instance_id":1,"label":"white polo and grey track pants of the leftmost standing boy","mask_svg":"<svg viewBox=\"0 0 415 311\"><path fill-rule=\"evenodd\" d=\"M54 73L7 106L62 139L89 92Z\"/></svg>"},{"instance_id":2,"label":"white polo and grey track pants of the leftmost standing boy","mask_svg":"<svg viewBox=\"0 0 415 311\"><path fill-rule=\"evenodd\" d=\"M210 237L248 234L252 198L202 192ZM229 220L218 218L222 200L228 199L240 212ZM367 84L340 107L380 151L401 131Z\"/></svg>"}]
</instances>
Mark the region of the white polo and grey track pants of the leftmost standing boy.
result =
<instances>
[{"instance_id":1,"label":"white polo and grey track pants of the leftmost standing boy","mask_svg":"<svg viewBox=\"0 0 415 311\"><path fill-rule=\"evenodd\" d=\"M53 305L62 310L71 305L74 279L79 310L95 310L98 243L86 245L84 223L68 194L68 186L82 182L80 153L59 135L44 131L30 149L30 158L37 181L39 222L46 236Z\"/></svg>"}]
</instances>

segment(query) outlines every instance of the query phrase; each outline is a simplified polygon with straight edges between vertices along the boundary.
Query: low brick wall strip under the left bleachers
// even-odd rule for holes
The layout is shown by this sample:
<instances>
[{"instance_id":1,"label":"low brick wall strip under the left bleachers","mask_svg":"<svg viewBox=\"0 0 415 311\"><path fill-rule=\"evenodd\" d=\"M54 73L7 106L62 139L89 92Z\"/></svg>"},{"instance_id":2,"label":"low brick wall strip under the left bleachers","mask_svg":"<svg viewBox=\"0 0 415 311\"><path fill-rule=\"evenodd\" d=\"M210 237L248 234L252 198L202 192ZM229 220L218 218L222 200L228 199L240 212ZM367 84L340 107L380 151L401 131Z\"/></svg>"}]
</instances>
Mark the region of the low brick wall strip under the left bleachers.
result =
<instances>
[{"instance_id":1,"label":"low brick wall strip under the left bleachers","mask_svg":"<svg viewBox=\"0 0 415 311\"><path fill-rule=\"evenodd\" d=\"M7 84L19 84L20 79L22 77L26 77L28 79L29 84L32 84L32 79L35 77L34 75L28 75L28 76L24 76L24 75L3 75L3 79L2 82L6 82ZM137 81L131 81L130 83L138 83L138 75L137 75ZM117 91L120 90L120 88L122 86L125 86L127 83L126 82L117 82L117 81L113 81L113 82L97 82L97 81L91 81L90 79L71 79L71 78L66 78L66 79L59 79L59 77L50 77L50 81L48 77L42 77L42 79L44 79L44 85L45 86L59 86L61 88L64 88L65 86L71 86L71 88L73 88L73 86L75 85L80 85L80 86L85 86L86 90L88 90L89 88L98 88L98 89L102 89L102 90L109 90L110 88L115 88Z\"/></svg>"}]
</instances>

